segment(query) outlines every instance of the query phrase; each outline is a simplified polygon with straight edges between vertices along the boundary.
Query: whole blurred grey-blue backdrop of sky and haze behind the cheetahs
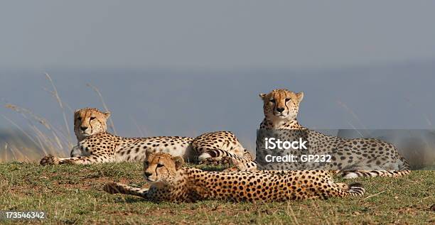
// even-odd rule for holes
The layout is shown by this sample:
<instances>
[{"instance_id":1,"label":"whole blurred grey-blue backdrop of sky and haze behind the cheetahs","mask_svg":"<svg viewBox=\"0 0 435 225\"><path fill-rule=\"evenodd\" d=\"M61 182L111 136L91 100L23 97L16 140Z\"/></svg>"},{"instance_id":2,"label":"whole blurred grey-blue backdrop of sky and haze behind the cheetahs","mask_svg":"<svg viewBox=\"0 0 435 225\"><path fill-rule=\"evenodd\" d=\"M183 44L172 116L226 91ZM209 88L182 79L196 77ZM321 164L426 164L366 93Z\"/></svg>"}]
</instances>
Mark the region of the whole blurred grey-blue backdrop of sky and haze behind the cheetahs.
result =
<instances>
[{"instance_id":1,"label":"whole blurred grey-blue backdrop of sky and haze behind the cheetahs","mask_svg":"<svg viewBox=\"0 0 435 225\"><path fill-rule=\"evenodd\" d=\"M0 159L68 155L73 111L104 109L99 93L121 136L229 130L254 148L258 94L276 88L305 92L299 121L309 128L431 130L433 9L433 1L3 1Z\"/></svg>"}]
</instances>

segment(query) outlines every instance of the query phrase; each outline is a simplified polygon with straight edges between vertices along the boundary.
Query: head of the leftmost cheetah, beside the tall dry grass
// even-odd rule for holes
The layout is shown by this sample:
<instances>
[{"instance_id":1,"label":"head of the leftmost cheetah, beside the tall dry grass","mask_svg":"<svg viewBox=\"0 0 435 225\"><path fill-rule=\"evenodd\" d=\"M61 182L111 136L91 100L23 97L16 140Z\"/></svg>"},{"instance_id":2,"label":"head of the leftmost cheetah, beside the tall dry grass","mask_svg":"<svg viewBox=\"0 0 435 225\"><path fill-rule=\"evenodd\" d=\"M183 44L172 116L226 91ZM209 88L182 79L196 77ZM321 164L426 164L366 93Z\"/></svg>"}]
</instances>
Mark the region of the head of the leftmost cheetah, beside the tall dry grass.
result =
<instances>
[{"instance_id":1,"label":"head of the leftmost cheetah, beside the tall dry grass","mask_svg":"<svg viewBox=\"0 0 435 225\"><path fill-rule=\"evenodd\" d=\"M107 119L109 112L102 112L98 109L85 108L78 109L74 113L74 132L78 141L82 141L87 136L107 130Z\"/></svg>"}]
</instances>

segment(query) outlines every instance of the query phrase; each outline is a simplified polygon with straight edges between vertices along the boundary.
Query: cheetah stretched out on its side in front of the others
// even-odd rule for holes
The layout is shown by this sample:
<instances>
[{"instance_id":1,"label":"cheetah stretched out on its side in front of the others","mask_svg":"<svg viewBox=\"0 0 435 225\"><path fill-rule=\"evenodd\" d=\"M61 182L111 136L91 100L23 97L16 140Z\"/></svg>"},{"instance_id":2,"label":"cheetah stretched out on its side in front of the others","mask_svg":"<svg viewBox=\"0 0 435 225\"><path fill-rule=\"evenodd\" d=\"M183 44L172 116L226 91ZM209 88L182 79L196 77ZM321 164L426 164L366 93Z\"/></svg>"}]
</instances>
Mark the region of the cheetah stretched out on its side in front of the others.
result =
<instances>
[{"instance_id":1,"label":"cheetah stretched out on its side in front of the others","mask_svg":"<svg viewBox=\"0 0 435 225\"><path fill-rule=\"evenodd\" d=\"M326 199L361 196L359 184L335 183L323 171L291 172L207 172L185 168L181 157L149 153L144 162L144 177L149 188L135 188L116 182L104 185L110 194L144 197L153 202L195 202L226 199L235 202L272 202L289 199Z\"/></svg>"}]
</instances>

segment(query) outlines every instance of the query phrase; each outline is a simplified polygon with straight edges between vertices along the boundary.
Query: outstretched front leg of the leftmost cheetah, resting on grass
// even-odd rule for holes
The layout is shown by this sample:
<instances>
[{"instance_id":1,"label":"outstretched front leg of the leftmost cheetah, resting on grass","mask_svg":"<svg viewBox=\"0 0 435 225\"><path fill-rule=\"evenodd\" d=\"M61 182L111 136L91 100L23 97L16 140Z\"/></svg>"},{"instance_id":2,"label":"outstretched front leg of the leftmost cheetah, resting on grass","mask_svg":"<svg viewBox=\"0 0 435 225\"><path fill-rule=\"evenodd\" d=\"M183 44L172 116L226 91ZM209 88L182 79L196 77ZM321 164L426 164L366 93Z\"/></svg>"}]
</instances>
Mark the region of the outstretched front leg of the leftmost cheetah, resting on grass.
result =
<instances>
[{"instance_id":1,"label":"outstretched front leg of the leftmost cheetah, resting on grass","mask_svg":"<svg viewBox=\"0 0 435 225\"><path fill-rule=\"evenodd\" d=\"M59 164L93 164L93 163L110 163L114 162L114 158L107 154L78 156L71 158L57 158L53 155L45 156L41 159L41 165L59 165Z\"/></svg>"}]
</instances>

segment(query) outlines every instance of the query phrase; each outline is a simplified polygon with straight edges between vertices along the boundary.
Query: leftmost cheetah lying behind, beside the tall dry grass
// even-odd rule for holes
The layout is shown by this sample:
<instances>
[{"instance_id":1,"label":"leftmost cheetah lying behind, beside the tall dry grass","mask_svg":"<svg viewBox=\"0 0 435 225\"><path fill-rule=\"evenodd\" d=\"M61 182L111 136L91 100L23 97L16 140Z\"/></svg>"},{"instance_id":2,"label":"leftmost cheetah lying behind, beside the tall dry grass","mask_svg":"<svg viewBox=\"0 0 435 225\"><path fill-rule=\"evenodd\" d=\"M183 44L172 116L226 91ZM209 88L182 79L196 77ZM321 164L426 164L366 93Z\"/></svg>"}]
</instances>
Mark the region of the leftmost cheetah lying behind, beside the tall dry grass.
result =
<instances>
[{"instance_id":1,"label":"leftmost cheetah lying behind, beside the tall dry grass","mask_svg":"<svg viewBox=\"0 0 435 225\"><path fill-rule=\"evenodd\" d=\"M247 150L242 148L235 135L229 131L205 133L195 138L195 141L193 138L179 136L124 138L106 132L109 116L108 112L93 108L75 111L74 131L77 146L71 150L70 158L48 155L41 160L41 165L142 161L145 152L170 153L189 162L200 160L219 163L222 156L224 161L225 157L241 161L252 160ZM212 154L216 151L220 155L214 154L212 158L198 157L205 150L210 150Z\"/></svg>"}]
</instances>

